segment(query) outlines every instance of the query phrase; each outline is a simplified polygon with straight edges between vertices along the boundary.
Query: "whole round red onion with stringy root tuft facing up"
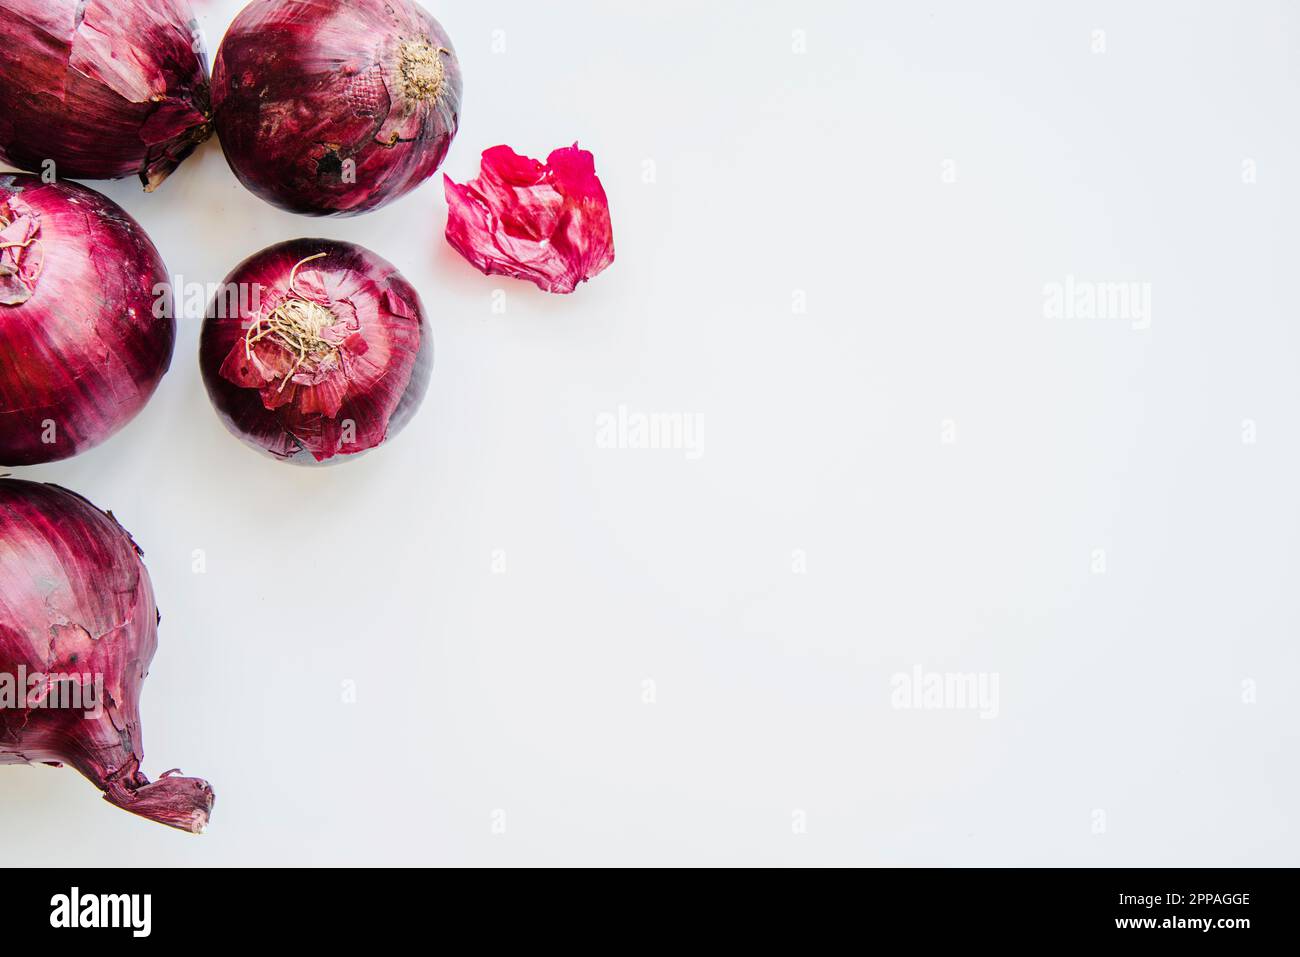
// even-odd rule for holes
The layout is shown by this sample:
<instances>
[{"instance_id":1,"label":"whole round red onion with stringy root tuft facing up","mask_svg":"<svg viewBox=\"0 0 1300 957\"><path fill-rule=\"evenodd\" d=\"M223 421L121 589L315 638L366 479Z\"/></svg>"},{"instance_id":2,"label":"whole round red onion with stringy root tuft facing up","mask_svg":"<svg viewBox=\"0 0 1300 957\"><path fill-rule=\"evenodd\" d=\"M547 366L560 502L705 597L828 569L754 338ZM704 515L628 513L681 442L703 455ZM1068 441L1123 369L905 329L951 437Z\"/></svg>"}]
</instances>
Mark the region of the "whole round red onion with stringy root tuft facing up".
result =
<instances>
[{"instance_id":1,"label":"whole round red onion with stringy root tuft facing up","mask_svg":"<svg viewBox=\"0 0 1300 957\"><path fill-rule=\"evenodd\" d=\"M235 436L317 464L374 449L415 415L433 341L415 289L369 250L295 239L244 260L208 308L208 395Z\"/></svg>"}]
</instances>

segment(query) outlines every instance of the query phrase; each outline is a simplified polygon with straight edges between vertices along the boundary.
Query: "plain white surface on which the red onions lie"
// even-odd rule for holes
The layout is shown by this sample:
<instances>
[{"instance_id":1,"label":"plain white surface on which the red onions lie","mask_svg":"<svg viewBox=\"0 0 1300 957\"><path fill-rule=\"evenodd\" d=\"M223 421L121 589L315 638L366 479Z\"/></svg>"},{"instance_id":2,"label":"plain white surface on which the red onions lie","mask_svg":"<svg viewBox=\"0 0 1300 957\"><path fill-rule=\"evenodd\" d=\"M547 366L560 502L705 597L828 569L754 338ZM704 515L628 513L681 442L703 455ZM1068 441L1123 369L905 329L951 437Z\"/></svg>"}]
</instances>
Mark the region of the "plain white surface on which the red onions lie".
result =
<instances>
[{"instance_id":1,"label":"plain white surface on which the red onions lie","mask_svg":"<svg viewBox=\"0 0 1300 957\"><path fill-rule=\"evenodd\" d=\"M238 7L200 3L211 51ZM616 264L476 273L441 176L324 222L216 143L109 185L186 281L374 248L433 385L381 451L287 467L212 413L190 316L129 429L20 469L146 549L146 770L217 804L190 837L0 768L0 861L1297 863L1292 5L430 9L445 169L578 140ZM1066 276L1150 283L1149 328L1046 317ZM599 447L620 406L703 454ZM997 716L892 707L915 666L996 672Z\"/></svg>"}]
</instances>

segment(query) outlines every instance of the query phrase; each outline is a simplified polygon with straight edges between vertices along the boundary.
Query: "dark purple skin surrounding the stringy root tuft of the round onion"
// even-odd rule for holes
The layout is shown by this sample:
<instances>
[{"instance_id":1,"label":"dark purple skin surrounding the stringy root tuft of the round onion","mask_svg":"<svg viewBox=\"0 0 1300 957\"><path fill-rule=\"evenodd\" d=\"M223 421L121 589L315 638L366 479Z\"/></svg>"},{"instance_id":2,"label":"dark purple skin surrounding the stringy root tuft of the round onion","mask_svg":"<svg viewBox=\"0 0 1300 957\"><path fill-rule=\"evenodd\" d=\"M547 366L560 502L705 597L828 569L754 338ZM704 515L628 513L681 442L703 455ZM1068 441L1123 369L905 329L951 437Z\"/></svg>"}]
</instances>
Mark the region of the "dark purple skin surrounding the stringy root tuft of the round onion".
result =
<instances>
[{"instance_id":1,"label":"dark purple skin surrounding the stringy root tuft of the round onion","mask_svg":"<svg viewBox=\"0 0 1300 957\"><path fill-rule=\"evenodd\" d=\"M332 285L355 289L359 335L367 343L361 359L378 364L370 381L339 380L346 398L334 415L303 412L303 399L276 410L280 382L264 390L231 381L230 361L243 356L250 325L289 289L294 267L309 256L328 254L299 270L299 282L318 272ZM221 421L237 438L280 462L328 465L356 458L396 436L419 411L433 371L433 337L415 287L387 260L367 248L332 239L294 239L272 246L239 264L226 289L257 290L263 308L250 309L251 293L222 298L208 307L199 341L199 365L208 397ZM390 300L389 296L393 296ZM238 308L228 308L231 299ZM399 302L410 317L391 315L385 302ZM347 423L352 433L342 432Z\"/></svg>"}]
</instances>

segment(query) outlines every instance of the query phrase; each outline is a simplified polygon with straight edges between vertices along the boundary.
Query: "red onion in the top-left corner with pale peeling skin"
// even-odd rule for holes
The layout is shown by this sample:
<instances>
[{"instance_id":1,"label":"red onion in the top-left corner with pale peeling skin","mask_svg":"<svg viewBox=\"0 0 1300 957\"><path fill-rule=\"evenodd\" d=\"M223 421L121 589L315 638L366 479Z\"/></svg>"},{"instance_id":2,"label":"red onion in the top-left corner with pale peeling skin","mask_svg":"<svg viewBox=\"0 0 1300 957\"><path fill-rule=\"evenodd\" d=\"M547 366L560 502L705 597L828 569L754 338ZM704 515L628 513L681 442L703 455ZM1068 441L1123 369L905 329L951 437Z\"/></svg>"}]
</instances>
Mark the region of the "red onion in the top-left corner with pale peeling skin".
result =
<instances>
[{"instance_id":1,"label":"red onion in the top-left corner with pale peeling skin","mask_svg":"<svg viewBox=\"0 0 1300 957\"><path fill-rule=\"evenodd\" d=\"M212 135L188 0L0 0L0 160L152 191Z\"/></svg>"}]
</instances>

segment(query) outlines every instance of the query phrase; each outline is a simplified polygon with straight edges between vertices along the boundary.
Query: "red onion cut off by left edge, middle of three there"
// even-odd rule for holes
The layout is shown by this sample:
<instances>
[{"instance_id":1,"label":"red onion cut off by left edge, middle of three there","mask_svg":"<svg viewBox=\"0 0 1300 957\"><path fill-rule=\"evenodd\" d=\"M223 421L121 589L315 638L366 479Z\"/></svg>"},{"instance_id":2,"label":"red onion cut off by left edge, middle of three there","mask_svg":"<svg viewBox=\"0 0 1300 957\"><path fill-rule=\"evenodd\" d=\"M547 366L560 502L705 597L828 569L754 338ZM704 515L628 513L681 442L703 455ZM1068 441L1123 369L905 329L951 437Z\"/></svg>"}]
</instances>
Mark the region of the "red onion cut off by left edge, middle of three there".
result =
<instances>
[{"instance_id":1,"label":"red onion cut off by left edge, middle of three there","mask_svg":"<svg viewBox=\"0 0 1300 957\"><path fill-rule=\"evenodd\" d=\"M0 174L0 464L99 445L172 363L166 267L94 190Z\"/></svg>"}]
</instances>

